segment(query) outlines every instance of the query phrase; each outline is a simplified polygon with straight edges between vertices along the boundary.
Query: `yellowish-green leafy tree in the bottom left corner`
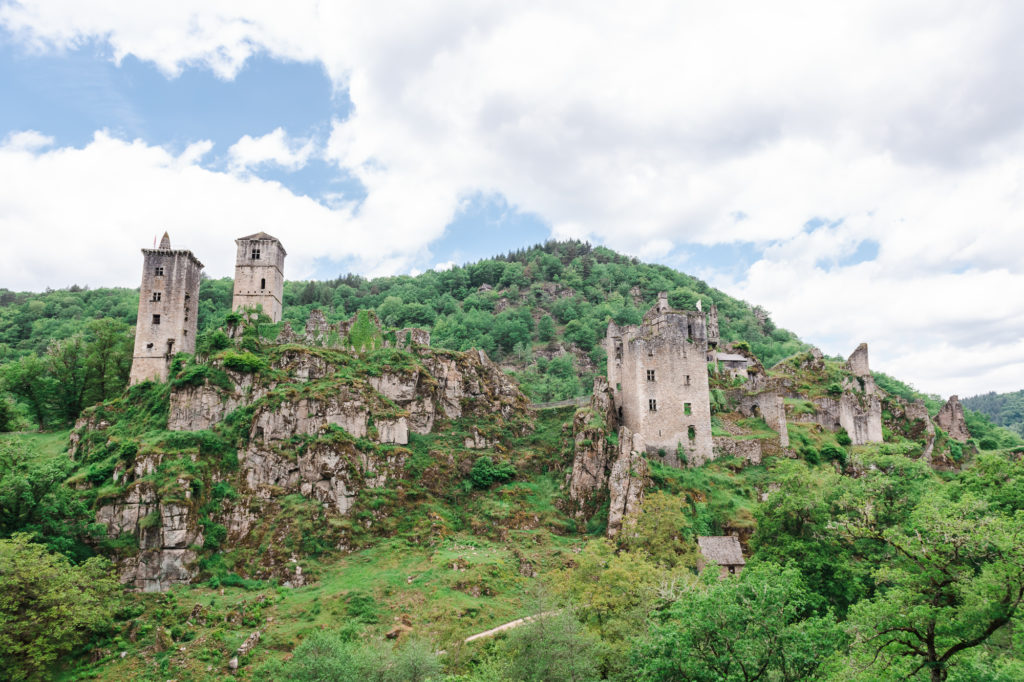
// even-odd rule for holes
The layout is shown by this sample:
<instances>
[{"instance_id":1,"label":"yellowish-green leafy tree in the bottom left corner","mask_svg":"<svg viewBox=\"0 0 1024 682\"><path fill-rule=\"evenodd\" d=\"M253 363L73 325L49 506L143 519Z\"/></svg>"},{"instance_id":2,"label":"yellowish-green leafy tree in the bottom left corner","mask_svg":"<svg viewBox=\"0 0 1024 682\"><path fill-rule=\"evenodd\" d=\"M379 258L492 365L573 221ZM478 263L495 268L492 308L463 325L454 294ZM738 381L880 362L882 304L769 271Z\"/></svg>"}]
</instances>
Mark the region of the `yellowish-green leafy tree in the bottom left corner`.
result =
<instances>
[{"instance_id":1,"label":"yellowish-green leafy tree in the bottom left corner","mask_svg":"<svg viewBox=\"0 0 1024 682\"><path fill-rule=\"evenodd\" d=\"M120 586L110 561L74 566L16 535L0 540L0 676L33 680L111 628Z\"/></svg>"}]
</instances>

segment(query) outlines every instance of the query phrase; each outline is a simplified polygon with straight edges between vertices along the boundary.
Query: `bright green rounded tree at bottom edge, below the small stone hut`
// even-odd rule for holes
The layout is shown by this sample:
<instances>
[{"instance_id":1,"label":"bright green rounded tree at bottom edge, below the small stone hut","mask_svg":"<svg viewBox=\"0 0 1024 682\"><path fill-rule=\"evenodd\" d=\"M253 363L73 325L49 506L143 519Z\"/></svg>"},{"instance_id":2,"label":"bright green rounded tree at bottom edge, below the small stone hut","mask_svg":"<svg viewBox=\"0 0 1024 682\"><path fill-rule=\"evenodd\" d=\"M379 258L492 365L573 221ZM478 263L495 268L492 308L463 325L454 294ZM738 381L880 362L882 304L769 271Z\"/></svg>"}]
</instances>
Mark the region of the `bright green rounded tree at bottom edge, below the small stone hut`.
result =
<instances>
[{"instance_id":1,"label":"bright green rounded tree at bottom edge, below the small stone hut","mask_svg":"<svg viewBox=\"0 0 1024 682\"><path fill-rule=\"evenodd\" d=\"M830 613L811 615L812 601L794 568L754 564L724 581L706 570L700 587L638 642L637 679L821 679L821 665L842 646L843 631Z\"/></svg>"}]
</instances>

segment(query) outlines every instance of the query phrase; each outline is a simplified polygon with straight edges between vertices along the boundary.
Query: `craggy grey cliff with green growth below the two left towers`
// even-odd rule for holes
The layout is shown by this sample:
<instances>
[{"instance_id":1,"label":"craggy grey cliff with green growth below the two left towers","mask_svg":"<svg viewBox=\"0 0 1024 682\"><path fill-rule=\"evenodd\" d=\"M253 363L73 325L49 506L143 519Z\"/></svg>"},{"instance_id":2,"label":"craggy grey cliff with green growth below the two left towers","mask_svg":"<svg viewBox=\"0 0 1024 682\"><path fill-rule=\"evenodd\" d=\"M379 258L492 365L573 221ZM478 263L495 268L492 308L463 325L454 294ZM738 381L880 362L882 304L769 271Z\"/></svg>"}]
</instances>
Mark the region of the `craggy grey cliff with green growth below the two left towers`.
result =
<instances>
[{"instance_id":1,"label":"craggy grey cliff with green growth below the two left towers","mask_svg":"<svg viewBox=\"0 0 1024 682\"><path fill-rule=\"evenodd\" d=\"M304 341L323 343L322 321L307 327ZM166 395L166 430L140 426L137 438L124 438L124 424L117 435L105 430L119 419L109 408L87 414L75 452L87 461L123 454L96 506L110 542L129 548L119 550L122 581L155 591L194 580L213 528L215 543L232 547L270 532L253 574L296 584L295 557L273 540L290 532L289 496L313 502L323 518L312 522L328 523L364 492L401 479L411 433L455 427L501 447L505 434L528 428L525 397L485 353L417 340L365 353L305 343L260 355L228 349L179 368L170 386L139 388ZM337 524L324 538L347 542Z\"/></svg>"}]
</instances>

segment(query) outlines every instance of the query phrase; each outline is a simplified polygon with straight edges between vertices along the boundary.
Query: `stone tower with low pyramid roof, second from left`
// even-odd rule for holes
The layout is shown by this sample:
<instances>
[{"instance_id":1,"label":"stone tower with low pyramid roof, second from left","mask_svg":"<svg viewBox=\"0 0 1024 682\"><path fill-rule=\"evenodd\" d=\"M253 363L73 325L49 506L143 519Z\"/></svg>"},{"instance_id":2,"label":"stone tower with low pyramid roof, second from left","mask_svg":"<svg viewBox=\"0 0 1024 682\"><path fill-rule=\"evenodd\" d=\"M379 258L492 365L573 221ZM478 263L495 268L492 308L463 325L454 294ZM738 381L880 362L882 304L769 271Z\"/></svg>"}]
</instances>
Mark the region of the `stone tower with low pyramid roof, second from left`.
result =
<instances>
[{"instance_id":1,"label":"stone tower with low pyramid roof, second from left","mask_svg":"<svg viewBox=\"0 0 1024 682\"><path fill-rule=\"evenodd\" d=\"M234 240L234 295L231 309L263 306L273 322L281 322L281 299L285 291L285 256L288 252L275 238L256 232Z\"/></svg>"}]
</instances>

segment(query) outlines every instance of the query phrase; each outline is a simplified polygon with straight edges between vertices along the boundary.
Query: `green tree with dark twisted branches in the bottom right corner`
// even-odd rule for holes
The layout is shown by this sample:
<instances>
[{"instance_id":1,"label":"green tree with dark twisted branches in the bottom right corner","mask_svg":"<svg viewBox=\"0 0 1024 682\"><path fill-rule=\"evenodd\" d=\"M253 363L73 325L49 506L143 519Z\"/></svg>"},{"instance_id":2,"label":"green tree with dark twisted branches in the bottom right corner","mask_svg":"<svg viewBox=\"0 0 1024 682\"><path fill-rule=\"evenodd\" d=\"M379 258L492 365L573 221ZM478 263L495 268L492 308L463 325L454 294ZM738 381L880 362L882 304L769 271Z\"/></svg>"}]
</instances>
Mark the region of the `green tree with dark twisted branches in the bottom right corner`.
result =
<instances>
[{"instance_id":1,"label":"green tree with dark twisted branches in the bottom right corner","mask_svg":"<svg viewBox=\"0 0 1024 682\"><path fill-rule=\"evenodd\" d=\"M973 495L931 492L906 524L865 509L851 537L889 551L878 593L850 609L853 659L887 677L946 680L961 654L1006 628L1024 602L1024 512L993 512Z\"/></svg>"}]
</instances>

